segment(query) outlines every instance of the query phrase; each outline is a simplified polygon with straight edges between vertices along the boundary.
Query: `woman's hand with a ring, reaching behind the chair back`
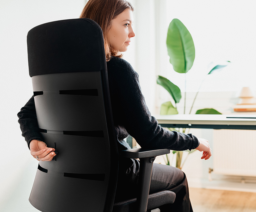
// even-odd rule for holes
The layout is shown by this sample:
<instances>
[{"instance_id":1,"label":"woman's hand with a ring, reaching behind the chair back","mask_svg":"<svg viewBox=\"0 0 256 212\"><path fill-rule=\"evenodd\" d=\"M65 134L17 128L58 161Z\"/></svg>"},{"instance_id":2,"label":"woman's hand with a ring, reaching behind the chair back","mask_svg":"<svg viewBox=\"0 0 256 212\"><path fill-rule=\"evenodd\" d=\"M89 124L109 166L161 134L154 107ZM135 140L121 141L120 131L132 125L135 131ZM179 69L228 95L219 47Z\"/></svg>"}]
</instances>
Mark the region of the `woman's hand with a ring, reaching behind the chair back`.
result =
<instances>
[{"instance_id":1,"label":"woman's hand with a ring, reaching behind the chair back","mask_svg":"<svg viewBox=\"0 0 256 212\"><path fill-rule=\"evenodd\" d=\"M39 140L31 140L30 144L30 154L36 158L38 161L51 161L56 153L54 148L47 147L46 143Z\"/></svg>"}]
</instances>

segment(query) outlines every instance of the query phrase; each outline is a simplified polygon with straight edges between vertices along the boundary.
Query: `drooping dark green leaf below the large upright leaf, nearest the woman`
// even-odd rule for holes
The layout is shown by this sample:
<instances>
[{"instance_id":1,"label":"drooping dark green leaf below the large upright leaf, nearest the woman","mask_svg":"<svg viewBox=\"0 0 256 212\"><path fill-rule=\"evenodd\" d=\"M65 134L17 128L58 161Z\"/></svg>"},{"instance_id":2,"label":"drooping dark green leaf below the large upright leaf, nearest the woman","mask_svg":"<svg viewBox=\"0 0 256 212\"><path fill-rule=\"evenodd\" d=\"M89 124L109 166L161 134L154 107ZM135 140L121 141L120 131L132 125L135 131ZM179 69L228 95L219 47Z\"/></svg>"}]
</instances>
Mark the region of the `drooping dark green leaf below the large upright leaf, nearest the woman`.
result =
<instances>
[{"instance_id":1,"label":"drooping dark green leaf below the large upright leaf, nearest the woman","mask_svg":"<svg viewBox=\"0 0 256 212\"><path fill-rule=\"evenodd\" d=\"M158 76L157 84L162 85L171 94L175 103L180 102L181 90L177 85L175 85L169 79L162 76Z\"/></svg>"}]
</instances>

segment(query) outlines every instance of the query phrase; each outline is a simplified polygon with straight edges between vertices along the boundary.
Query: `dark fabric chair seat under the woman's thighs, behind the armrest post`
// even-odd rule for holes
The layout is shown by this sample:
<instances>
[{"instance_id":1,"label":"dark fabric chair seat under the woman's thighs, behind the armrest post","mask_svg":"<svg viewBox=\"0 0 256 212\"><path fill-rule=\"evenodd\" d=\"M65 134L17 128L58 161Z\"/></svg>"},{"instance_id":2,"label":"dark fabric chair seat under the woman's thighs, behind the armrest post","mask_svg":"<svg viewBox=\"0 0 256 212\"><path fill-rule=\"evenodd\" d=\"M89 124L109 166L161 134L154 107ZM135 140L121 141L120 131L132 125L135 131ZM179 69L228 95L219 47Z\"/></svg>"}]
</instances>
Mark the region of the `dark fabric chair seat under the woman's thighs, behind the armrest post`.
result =
<instances>
[{"instance_id":1,"label":"dark fabric chair seat under the woman's thighs, behind the armrest post","mask_svg":"<svg viewBox=\"0 0 256 212\"><path fill-rule=\"evenodd\" d=\"M160 191L150 194L148 197L147 210L157 208L161 205L174 203L176 194L173 191ZM136 211L136 198L116 202L114 204L113 212L128 212Z\"/></svg>"}]
</instances>

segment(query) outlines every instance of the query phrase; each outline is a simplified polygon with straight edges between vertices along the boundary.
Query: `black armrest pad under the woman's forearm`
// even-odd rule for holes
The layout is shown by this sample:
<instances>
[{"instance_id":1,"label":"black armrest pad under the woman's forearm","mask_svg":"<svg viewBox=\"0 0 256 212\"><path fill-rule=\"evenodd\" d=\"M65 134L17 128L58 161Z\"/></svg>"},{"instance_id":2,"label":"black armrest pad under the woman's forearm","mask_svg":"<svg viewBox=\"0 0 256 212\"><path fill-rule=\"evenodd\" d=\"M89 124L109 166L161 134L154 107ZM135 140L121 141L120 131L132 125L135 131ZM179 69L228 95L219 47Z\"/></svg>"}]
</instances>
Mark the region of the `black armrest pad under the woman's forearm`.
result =
<instances>
[{"instance_id":1,"label":"black armrest pad under the woman's forearm","mask_svg":"<svg viewBox=\"0 0 256 212\"><path fill-rule=\"evenodd\" d=\"M147 158L158 155L169 154L170 149L154 149L147 150L142 148L126 149L121 152L121 155L126 158Z\"/></svg>"}]
</instances>

